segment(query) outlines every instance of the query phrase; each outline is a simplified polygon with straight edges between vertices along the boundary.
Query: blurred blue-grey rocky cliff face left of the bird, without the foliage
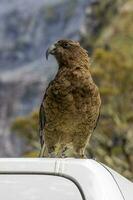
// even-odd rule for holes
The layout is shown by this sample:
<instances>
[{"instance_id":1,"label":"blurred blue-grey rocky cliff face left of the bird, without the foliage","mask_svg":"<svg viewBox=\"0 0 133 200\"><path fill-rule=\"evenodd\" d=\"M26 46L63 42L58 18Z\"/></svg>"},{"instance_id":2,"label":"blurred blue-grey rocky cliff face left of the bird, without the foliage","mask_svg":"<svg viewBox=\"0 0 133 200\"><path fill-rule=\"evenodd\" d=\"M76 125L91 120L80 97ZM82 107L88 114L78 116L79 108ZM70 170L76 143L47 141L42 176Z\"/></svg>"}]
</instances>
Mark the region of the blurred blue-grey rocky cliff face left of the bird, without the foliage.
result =
<instances>
[{"instance_id":1,"label":"blurred blue-grey rocky cliff face left of the bird, without the foliage","mask_svg":"<svg viewBox=\"0 0 133 200\"><path fill-rule=\"evenodd\" d=\"M49 3L50 2L50 3ZM78 39L88 0L13 0L0 5L0 156L18 156L23 142L11 121L37 108L56 63L46 64L47 46L59 38Z\"/></svg>"}]
</instances>

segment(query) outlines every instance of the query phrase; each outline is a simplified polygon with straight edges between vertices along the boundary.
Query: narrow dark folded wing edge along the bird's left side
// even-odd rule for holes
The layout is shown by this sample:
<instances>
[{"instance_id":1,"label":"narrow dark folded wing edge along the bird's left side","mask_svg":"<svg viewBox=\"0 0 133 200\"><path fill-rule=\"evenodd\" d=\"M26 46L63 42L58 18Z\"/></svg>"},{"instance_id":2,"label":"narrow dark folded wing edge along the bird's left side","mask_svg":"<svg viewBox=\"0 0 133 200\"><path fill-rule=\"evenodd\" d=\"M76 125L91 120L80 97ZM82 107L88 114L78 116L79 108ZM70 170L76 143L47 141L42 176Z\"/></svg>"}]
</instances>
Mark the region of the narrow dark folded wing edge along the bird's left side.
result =
<instances>
[{"instance_id":1,"label":"narrow dark folded wing edge along the bird's left side","mask_svg":"<svg viewBox=\"0 0 133 200\"><path fill-rule=\"evenodd\" d=\"M40 143L41 147L44 144L44 126L45 126L45 111L44 111L44 106L43 102L41 103L40 110L39 110L39 137L40 137Z\"/></svg>"}]
</instances>

